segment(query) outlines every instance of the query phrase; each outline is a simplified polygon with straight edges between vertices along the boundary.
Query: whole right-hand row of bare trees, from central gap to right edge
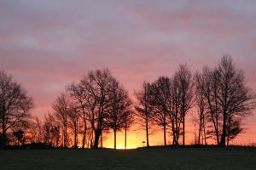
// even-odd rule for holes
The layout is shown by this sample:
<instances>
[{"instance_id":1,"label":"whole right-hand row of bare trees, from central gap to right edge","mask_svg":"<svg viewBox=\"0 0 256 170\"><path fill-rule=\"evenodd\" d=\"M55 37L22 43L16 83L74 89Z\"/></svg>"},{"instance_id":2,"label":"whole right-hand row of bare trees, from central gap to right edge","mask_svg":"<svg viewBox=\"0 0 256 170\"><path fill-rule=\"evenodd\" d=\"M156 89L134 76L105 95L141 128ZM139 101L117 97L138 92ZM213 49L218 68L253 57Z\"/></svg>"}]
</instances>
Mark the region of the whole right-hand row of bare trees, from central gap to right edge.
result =
<instances>
[{"instance_id":1,"label":"whole right-hand row of bare trees, from central gap to right edge","mask_svg":"<svg viewBox=\"0 0 256 170\"><path fill-rule=\"evenodd\" d=\"M247 88L244 73L236 69L231 57L224 55L215 68L204 67L195 75L187 65L180 65L172 77L160 77L155 82L143 83L136 93L137 117L146 131L152 125L172 136L172 144L185 144L185 117L192 107L197 109L193 122L198 126L195 144L207 144L215 139L220 146L242 132L241 121L252 113L255 95Z\"/></svg>"}]
</instances>

